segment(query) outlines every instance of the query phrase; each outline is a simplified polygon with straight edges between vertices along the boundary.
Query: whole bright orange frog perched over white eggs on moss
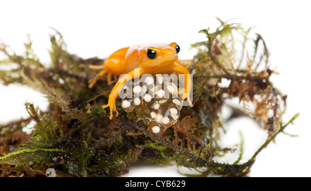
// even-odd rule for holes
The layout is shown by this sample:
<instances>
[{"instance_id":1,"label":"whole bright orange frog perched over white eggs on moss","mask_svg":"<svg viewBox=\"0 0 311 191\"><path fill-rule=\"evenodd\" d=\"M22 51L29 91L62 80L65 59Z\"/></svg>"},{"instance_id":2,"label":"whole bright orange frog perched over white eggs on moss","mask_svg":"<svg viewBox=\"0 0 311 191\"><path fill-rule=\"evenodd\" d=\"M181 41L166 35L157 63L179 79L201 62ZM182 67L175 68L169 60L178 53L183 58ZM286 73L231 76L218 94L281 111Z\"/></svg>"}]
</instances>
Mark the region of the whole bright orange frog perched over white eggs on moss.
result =
<instances>
[{"instance_id":1,"label":"whole bright orange frog perched over white eggs on moss","mask_svg":"<svg viewBox=\"0 0 311 191\"><path fill-rule=\"evenodd\" d=\"M184 89L182 89L182 101L187 98L189 105L193 104L190 100L191 79L189 71L183 66L182 61L178 60L180 47L175 42L171 44L138 44L131 47L122 48L110 55L102 66L90 66L91 69L102 69L96 77L91 80L89 88L92 88L95 82L105 73L108 73L108 82L111 82L111 75L122 75L113 87L108 104L103 108L110 108L110 119L113 118L113 111L117 112L115 99L119 95L124 84L144 74L158 73L179 73L185 74Z\"/></svg>"}]
</instances>

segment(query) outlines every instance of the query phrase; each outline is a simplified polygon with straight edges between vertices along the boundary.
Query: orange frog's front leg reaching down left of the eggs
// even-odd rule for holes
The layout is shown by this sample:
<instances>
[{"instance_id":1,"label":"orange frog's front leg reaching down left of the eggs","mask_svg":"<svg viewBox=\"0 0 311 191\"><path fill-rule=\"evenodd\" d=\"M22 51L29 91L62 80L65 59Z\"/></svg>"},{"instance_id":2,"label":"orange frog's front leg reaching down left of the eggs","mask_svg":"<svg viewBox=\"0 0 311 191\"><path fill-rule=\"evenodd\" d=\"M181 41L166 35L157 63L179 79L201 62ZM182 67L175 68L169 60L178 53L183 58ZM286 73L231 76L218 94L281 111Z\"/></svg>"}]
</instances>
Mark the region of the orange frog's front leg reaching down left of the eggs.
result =
<instances>
[{"instance_id":1,"label":"orange frog's front leg reaching down left of the eggs","mask_svg":"<svg viewBox=\"0 0 311 191\"><path fill-rule=\"evenodd\" d=\"M111 93L109 95L108 104L103 106L103 108L109 107L109 109L110 109L110 117L109 118L110 119L113 118L113 111L115 111L115 113L117 113L116 116L118 116L118 114L119 114L117 112L117 107L115 106L115 99L117 99L117 96L119 96L119 93L120 93L120 91L122 91L124 84L129 80L140 77L142 74L143 74L142 69L136 68L133 71L122 76L122 78L120 78L117 81L117 84L115 84L115 86L113 87L113 89L111 90Z\"/></svg>"}]
</instances>

